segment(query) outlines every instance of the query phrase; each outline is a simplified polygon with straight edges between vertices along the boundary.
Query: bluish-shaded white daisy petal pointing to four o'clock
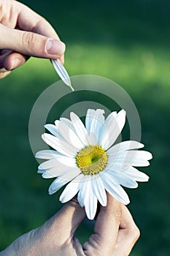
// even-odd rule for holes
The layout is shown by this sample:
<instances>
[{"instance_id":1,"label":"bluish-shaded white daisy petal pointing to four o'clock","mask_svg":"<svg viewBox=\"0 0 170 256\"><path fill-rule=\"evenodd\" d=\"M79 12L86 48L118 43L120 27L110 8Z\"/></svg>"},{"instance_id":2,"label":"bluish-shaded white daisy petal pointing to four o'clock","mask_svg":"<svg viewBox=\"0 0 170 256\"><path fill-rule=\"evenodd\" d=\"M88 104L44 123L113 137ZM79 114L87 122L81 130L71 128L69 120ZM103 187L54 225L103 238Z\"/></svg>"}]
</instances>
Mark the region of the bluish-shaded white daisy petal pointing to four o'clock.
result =
<instances>
[{"instance_id":1,"label":"bluish-shaded white daisy petal pointing to four o'clock","mask_svg":"<svg viewBox=\"0 0 170 256\"><path fill-rule=\"evenodd\" d=\"M138 187L138 184L134 180L134 178L131 178L125 172L107 170L107 173L110 174L112 178L117 180L117 183L122 185L123 187L128 187L131 189L136 189L136 187Z\"/></svg>"}]
</instances>

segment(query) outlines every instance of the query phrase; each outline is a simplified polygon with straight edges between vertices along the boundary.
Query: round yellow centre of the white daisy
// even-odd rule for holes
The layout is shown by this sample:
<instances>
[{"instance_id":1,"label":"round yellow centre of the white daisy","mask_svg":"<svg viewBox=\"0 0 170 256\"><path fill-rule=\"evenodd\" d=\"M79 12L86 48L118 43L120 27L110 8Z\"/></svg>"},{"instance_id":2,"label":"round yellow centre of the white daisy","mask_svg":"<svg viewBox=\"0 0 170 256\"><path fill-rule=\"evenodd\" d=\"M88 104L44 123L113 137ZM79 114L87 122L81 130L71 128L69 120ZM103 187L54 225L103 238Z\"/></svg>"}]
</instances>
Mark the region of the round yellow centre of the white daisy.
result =
<instances>
[{"instance_id":1,"label":"round yellow centre of the white daisy","mask_svg":"<svg viewBox=\"0 0 170 256\"><path fill-rule=\"evenodd\" d=\"M93 175L104 170L107 165L107 153L101 146L90 145L79 151L76 160L83 174Z\"/></svg>"}]
</instances>

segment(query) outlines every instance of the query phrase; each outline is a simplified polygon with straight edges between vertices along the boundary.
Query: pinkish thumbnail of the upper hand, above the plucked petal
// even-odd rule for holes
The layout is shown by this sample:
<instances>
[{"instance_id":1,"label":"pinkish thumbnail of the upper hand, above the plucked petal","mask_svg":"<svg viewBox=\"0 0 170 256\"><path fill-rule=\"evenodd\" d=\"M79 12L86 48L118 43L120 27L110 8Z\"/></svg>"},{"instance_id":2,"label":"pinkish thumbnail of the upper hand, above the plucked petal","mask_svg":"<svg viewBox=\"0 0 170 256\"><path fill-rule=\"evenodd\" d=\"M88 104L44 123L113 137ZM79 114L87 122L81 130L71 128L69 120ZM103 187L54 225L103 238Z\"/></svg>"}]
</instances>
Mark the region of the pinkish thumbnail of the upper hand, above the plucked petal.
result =
<instances>
[{"instance_id":1,"label":"pinkish thumbnail of the upper hand, above the plucked petal","mask_svg":"<svg viewBox=\"0 0 170 256\"><path fill-rule=\"evenodd\" d=\"M47 41L46 50L49 54L60 56L64 53L65 44L59 40L50 39Z\"/></svg>"}]
</instances>

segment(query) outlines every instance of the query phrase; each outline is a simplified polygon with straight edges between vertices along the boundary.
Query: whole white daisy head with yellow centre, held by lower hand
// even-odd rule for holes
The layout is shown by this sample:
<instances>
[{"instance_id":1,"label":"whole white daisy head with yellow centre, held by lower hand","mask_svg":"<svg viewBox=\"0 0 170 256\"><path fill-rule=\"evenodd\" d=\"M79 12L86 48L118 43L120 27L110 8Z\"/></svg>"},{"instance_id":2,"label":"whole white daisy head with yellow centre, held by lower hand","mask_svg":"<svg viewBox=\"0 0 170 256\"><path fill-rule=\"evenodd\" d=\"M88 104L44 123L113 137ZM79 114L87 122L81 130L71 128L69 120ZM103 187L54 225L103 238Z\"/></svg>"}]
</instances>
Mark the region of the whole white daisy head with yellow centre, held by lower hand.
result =
<instances>
[{"instance_id":1,"label":"whole white daisy head with yellow centre, held by lower hand","mask_svg":"<svg viewBox=\"0 0 170 256\"><path fill-rule=\"evenodd\" d=\"M70 113L70 119L46 124L52 135L45 133L42 139L55 150L36 153L36 158L47 159L39 165L38 173L43 178L58 177L50 185L49 194L69 183L61 194L61 202L77 195L88 219L95 217L98 201L107 206L106 192L128 204L123 187L136 188L136 181L148 181L149 177L135 167L150 165L152 154L139 151L144 145L133 140L113 146L124 127L125 110L112 112L105 119L104 110L88 109L85 125L75 113Z\"/></svg>"}]
</instances>

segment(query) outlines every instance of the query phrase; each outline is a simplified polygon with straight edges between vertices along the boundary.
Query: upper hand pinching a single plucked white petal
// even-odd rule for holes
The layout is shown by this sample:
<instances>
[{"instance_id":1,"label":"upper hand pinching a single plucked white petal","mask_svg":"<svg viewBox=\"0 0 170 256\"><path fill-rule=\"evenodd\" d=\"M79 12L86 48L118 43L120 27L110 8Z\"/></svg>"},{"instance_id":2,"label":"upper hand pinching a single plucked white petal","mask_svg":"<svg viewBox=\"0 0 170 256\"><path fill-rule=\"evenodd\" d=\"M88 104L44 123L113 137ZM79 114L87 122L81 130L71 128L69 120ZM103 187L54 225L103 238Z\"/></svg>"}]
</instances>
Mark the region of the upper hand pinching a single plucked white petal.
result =
<instances>
[{"instance_id":1,"label":"upper hand pinching a single plucked white petal","mask_svg":"<svg viewBox=\"0 0 170 256\"><path fill-rule=\"evenodd\" d=\"M0 78L30 56L60 59L65 45L50 23L14 0L0 0Z\"/></svg>"}]
</instances>

